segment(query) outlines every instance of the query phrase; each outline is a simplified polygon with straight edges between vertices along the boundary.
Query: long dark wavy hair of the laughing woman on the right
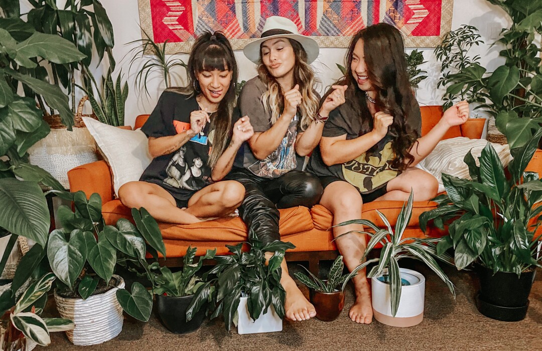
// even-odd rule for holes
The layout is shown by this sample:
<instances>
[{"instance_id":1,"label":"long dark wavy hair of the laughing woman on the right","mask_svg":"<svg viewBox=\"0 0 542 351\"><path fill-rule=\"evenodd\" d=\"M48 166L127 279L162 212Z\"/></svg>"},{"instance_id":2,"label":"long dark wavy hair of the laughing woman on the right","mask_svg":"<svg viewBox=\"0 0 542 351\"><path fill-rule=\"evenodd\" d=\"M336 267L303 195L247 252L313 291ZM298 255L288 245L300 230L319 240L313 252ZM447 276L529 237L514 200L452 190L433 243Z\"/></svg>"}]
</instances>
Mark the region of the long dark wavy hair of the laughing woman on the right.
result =
<instances>
[{"instance_id":1,"label":"long dark wavy hair of the laughing woman on the right","mask_svg":"<svg viewBox=\"0 0 542 351\"><path fill-rule=\"evenodd\" d=\"M392 167L404 170L414 161L409 150L420 135L406 123L416 115L416 104L413 104L415 98L406 72L401 31L386 23L373 24L359 30L350 42L345 58L347 72L337 84L349 86L345 92L346 104L352 111L360 111L360 135L363 135L373 129L373 117L367 106L365 92L358 87L351 67L354 48L359 40L363 40L367 75L377 91L376 108L393 116L393 123L388 128L388 133L393 136L391 147L396 155Z\"/></svg>"}]
</instances>

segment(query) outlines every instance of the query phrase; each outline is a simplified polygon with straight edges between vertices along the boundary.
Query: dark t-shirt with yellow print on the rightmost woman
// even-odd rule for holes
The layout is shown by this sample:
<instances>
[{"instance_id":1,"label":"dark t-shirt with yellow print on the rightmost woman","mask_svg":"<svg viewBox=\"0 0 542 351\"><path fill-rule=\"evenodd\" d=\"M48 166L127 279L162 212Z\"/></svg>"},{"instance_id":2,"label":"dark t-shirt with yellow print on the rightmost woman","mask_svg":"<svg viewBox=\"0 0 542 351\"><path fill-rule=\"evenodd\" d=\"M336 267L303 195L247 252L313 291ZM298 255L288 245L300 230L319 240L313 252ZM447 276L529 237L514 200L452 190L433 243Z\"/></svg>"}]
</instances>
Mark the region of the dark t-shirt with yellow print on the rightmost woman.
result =
<instances>
[{"instance_id":1,"label":"dark t-shirt with yellow print on the rightmost woman","mask_svg":"<svg viewBox=\"0 0 542 351\"><path fill-rule=\"evenodd\" d=\"M421 135L422 118L420 106L416 100L412 100L416 111L412 116L406 117L406 123ZM338 137L346 135L346 139L355 139L360 136L361 116L354 111L349 104L343 104L330 113L330 117L324 125L322 137ZM343 164L327 166L322 161L320 145L314 149L307 171L319 177L335 176L340 180L349 182L362 194L370 194L386 186L386 184L399 175L399 170L392 167L392 161L396 155L391 144L393 136L386 135L371 149L352 161Z\"/></svg>"}]
</instances>

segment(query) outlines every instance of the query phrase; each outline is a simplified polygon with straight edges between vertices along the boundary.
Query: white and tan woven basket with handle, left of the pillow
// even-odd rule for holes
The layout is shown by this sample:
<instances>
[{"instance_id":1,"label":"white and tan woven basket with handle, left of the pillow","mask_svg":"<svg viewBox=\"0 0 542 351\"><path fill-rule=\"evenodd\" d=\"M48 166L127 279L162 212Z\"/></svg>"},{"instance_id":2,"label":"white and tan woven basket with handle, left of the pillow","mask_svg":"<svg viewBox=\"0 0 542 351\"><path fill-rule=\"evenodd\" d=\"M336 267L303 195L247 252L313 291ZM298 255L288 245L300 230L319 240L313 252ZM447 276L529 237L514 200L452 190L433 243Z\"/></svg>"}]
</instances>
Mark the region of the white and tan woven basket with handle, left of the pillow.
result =
<instances>
[{"instance_id":1,"label":"white and tan woven basket with handle, left of the pillow","mask_svg":"<svg viewBox=\"0 0 542 351\"><path fill-rule=\"evenodd\" d=\"M82 113L87 100L88 97L85 96L79 101L77 113L74 114L73 131L67 130L58 114L43 116L51 127L51 132L28 150L30 163L48 171L66 189L69 189L70 169L98 161L96 142L82 120L82 117L97 119L94 114Z\"/></svg>"}]
</instances>

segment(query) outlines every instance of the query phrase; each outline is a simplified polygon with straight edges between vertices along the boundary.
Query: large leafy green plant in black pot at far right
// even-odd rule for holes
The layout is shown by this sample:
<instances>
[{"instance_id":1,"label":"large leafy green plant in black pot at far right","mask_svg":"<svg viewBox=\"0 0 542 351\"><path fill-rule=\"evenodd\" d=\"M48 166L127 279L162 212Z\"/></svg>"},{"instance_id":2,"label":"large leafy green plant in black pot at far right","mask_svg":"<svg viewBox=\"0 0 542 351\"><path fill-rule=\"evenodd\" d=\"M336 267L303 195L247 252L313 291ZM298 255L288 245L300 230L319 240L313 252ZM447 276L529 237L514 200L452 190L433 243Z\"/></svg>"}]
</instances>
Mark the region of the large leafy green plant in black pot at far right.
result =
<instances>
[{"instance_id":1,"label":"large leafy green plant in black pot at far right","mask_svg":"<svg viewBox=\"0 0 542 351\"><path fill-rule=\"evenodd\" d=\"M526 145L510 150L514 159L508 173L491 143L482 150L480 165L467 154L464 162L472 180L443 174L447 194L435 199L436 209L420 215L423 230L430 220L437 227L448 226L437 252L454 248L459 270L476 264L478 309L500 321L525 317L535 267L542 266L542 181L538 173L525 171L540 136L542 129Z\"/></svg>"}]
</instances>

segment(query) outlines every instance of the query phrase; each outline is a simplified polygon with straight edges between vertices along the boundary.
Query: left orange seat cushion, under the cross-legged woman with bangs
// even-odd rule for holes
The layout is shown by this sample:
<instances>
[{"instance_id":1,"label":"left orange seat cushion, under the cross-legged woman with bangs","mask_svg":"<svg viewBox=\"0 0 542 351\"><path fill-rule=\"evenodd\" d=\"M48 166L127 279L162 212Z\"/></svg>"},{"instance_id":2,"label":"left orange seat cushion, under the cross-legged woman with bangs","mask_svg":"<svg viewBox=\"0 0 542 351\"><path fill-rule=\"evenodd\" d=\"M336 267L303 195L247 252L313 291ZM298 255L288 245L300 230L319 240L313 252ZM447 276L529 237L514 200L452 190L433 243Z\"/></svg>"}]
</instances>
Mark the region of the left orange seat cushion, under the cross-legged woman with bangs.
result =
<instances>
[{"instance_id":1,"label":"left orange seat cushion, under the cross-legged woman with bangs","mask_svg":"<svg viewBox=\"0 0 542 351\"><path fill-rule=\"evenodd\" d=\"M131 209L120 200L109 201L102 206L107 225L114 225L120 218L132 219ZM223 217L190 225L159 223L164 240L231 241L247 240L247 226L240 218ZM288 235L309 231L314 228L308 208L298 206L280 210L279 231L282 239ZM197 245L197 244L196 244Z\"/></svg>"}]
</instances>

